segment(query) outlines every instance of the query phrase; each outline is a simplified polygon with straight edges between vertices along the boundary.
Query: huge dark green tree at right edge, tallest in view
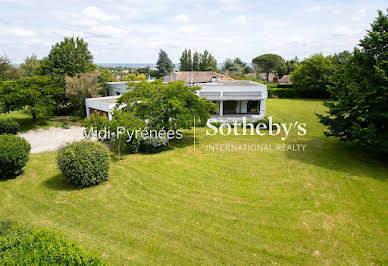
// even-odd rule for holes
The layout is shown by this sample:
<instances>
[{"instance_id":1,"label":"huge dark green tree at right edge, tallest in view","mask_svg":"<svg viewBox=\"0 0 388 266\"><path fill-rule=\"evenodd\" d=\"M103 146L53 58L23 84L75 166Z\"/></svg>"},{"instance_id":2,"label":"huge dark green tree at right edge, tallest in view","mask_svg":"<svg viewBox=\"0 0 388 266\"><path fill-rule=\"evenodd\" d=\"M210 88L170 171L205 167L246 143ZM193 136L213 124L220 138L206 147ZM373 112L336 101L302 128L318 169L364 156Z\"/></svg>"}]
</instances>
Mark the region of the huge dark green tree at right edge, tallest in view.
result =
<instances>
[{"instance_id":1,"label":"huge dark green tree at right edge, tallest in view","mask_svg":"<svg viewBox=\"0 0 388 266\"><path fill-rule=\"evenodd\" d=\"M382 11L360 41L361 50L339 57L331 99L318 115L327 136L388 153L388 16Z\"/></svg>"}]
</instances>

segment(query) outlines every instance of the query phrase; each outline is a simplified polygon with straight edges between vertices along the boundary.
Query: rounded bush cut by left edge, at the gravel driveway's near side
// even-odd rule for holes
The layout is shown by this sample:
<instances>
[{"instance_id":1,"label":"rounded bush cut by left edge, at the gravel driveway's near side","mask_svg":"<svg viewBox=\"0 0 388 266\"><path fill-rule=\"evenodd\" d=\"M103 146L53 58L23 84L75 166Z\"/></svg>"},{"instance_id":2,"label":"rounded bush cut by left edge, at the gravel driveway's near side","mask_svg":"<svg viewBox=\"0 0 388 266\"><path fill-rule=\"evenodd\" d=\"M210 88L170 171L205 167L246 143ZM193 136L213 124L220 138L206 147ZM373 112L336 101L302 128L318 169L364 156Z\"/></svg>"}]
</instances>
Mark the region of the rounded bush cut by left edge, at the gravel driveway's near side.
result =
<instances>
[{"instance_id":1,"label":"rounded bush cut by left edge, at the gravel driveway's near side","mask_svg":"<svg viewBox=\"0 0 388 266\"><path fill-rule=\"evenodd\" d=\"M31 145L22 137L0 135L0 179L14 178L28 161Z\"/></svg>"}]
</instances>

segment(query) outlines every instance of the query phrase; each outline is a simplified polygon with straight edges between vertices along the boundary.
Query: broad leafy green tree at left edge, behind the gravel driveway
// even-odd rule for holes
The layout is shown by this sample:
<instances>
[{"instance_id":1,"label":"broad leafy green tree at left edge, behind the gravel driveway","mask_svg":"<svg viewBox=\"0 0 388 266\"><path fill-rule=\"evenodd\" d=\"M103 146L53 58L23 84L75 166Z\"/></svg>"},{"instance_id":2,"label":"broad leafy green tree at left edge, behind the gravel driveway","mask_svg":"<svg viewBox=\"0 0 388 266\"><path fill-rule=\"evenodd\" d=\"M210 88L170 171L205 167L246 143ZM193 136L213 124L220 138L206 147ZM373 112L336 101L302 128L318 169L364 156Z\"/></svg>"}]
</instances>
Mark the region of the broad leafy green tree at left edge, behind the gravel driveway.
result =
<instances>
[{"instance_id":1,"label":"broad leafy green tree at left edge, behind the gravel driveway","mask_svg":"<svg viewBox=\"0 0 388 266\"><path fill-rule=\"evenodd\" d=\"M34 121L47 117L64 102L61 77L34 76L0 84L0 111L8 113L27 108Z\"/></svg>"}]
</instances>

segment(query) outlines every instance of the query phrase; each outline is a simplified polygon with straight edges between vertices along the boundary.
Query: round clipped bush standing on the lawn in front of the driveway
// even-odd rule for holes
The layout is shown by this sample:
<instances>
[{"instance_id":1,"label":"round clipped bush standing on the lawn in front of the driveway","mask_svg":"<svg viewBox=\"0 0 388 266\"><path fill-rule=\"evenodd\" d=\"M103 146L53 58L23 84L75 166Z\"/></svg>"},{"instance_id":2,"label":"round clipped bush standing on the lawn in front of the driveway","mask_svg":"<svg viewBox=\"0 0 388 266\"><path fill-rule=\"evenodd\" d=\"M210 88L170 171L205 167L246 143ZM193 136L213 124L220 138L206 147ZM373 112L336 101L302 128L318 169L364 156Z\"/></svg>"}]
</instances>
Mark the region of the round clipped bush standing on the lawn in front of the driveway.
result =
<instances>
[{"instance_id":1,"label":"round clipped bush standing on the lawn in front of the driveway","mask_svg":"<svg viewBox=\"0 0 388 266\"><path fill-rule=\"evenodd\" d=\"M109 155L101 143L81 140L58 149L58 167L70 183L93 186L108 180Z\"/></svg>"}]
</instances>

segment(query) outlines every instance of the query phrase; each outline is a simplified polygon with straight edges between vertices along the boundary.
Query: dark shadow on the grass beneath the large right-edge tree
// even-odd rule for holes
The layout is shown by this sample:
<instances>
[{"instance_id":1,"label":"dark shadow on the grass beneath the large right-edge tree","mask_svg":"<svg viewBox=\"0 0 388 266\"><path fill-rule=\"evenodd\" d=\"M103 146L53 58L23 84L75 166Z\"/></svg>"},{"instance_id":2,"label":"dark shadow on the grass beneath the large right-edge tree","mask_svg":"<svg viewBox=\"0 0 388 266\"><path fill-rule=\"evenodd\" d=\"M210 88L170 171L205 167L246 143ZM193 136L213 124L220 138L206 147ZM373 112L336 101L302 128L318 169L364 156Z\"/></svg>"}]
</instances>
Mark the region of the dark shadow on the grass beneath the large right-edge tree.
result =
<instances>
[{"instance_id":1,"label":"dark shadow on the grass beneath the large right-edge tree","mask_svg":"<svg viewBox=\"0 0 388 266\"><path fill-rule=\"evenodd\" d=\"M378 174L371 177L378 180L388 179L388 167L384 163L385 160L354 145L322 138L310 138L284 144L307 145L304 152L285 151L289 159L356 176L371 176L371 170L375 170Z\"/></svg>"}]
</instances>

